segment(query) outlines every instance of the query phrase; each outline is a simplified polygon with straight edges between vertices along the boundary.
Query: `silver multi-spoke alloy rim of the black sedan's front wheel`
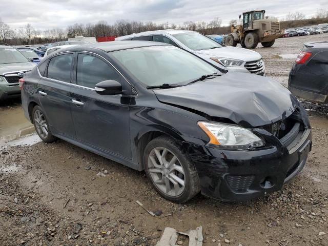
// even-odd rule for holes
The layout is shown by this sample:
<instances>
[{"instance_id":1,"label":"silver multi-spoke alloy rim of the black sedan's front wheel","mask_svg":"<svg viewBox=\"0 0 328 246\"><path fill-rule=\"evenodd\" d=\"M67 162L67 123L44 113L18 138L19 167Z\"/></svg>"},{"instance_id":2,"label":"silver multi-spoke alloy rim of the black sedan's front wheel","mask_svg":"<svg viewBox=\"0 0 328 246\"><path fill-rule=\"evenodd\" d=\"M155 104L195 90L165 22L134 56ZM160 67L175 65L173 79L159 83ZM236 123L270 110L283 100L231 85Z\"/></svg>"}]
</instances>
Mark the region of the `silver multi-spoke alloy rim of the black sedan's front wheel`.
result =
<instances>
[{"instance_id":1,"label":"silver multi-spoke alloy rim of the black sedan's front wheel","mask_svg":"<svg viewBox=\"0 0 328 246\"><path fill-rule=\"evenodd\" d=\"M148 156L148 170L155 186L163 193L177 197L185 190L185 171L170 150L156 147Z\"/></svg>"}]
</instances>

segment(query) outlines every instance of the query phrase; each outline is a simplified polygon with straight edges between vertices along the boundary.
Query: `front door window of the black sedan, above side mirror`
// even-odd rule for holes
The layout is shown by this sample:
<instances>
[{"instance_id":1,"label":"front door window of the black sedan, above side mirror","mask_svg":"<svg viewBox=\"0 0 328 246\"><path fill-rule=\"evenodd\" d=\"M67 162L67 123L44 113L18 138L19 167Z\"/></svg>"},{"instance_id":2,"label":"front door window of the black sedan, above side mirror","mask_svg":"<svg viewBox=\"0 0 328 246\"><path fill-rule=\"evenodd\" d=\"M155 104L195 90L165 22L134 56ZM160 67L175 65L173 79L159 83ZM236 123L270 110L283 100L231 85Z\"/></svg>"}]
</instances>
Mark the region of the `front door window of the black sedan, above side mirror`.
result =
<instances>
[{"instance_id":1,"label":"front door window of the black sedan, above side mirror","mask_svg":"<svg viewBox=\"0 0 328 246\"><path fill-rule=\"evenodd\" d=\"M104 60L92 55L78 54L76 84L89 88L104 80L119 80L116 71Z\"/></svg>"}]
</instances>

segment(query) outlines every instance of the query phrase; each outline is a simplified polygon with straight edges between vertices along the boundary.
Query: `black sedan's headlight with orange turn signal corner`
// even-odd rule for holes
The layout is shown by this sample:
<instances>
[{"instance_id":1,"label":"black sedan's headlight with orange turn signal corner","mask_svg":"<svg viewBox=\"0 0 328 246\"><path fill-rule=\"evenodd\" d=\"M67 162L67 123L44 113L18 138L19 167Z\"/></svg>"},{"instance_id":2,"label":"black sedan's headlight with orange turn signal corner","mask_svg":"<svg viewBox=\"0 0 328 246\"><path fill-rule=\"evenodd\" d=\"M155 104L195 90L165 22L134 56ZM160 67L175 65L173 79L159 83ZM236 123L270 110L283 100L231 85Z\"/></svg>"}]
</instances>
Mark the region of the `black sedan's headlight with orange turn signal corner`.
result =
<instances>
[{"instance_id":1,"label":"black sedan's headlight with orange turn signal corner","mask_svg":"<svg viewBox=\"0 0 328 246\"><path fill-rule=\"evenodd\" d=\"M199 121L198 126L209 136L209 144L238 150L264 146L258 136L245 128L209 121Z\"/></svg>"}]
</instances>

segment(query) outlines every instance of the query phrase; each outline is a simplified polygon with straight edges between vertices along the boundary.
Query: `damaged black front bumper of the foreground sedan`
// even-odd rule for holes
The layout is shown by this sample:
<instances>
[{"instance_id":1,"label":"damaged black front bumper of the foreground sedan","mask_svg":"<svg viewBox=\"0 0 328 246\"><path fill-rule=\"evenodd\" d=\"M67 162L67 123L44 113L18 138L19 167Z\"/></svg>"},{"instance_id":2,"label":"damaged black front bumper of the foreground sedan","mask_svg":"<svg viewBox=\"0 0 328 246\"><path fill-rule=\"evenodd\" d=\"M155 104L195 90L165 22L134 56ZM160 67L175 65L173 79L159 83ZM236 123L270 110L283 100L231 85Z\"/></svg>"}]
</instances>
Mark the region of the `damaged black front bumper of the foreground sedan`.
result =
<instances>
[{"instance_id":1,"label":"damaged black front bumper of the foreground sedan","mask_svg":"<svg viewBox=\"0 0 328 246\"><path fill-rule=\"evenodd\" d=\"M278 144L261 150L232 151L186 144L201 193L224 201L250 200L281 190L303 169L311 148L311 128L293 148Z\"/></svg>"}]
</instances>

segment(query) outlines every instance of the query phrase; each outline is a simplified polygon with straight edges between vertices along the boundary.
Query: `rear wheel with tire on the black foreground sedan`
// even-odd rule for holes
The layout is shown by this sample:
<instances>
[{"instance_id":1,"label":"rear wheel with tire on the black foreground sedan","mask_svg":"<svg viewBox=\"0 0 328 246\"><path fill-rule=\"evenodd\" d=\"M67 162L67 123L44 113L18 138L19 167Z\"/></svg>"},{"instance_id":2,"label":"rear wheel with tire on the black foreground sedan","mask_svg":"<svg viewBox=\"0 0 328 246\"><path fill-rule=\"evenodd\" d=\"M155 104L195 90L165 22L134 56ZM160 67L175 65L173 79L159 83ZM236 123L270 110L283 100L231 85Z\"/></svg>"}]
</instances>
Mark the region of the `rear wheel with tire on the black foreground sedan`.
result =
<instances>
[{"instance_id":1,"label":"rear wheel with tire on the black foreground sedan","mask_svg":"<svg viewBox=\"0 0 328 246\"><path fill-rule=\"evenodd\" d=\"M33 124L37 135L44 141L44 142L53 142L56 140L56 137L52 135L48 120L43 113L43 110L39 106L35 106L32 111L33 116Z\"/></svg>"}]
</instances>

